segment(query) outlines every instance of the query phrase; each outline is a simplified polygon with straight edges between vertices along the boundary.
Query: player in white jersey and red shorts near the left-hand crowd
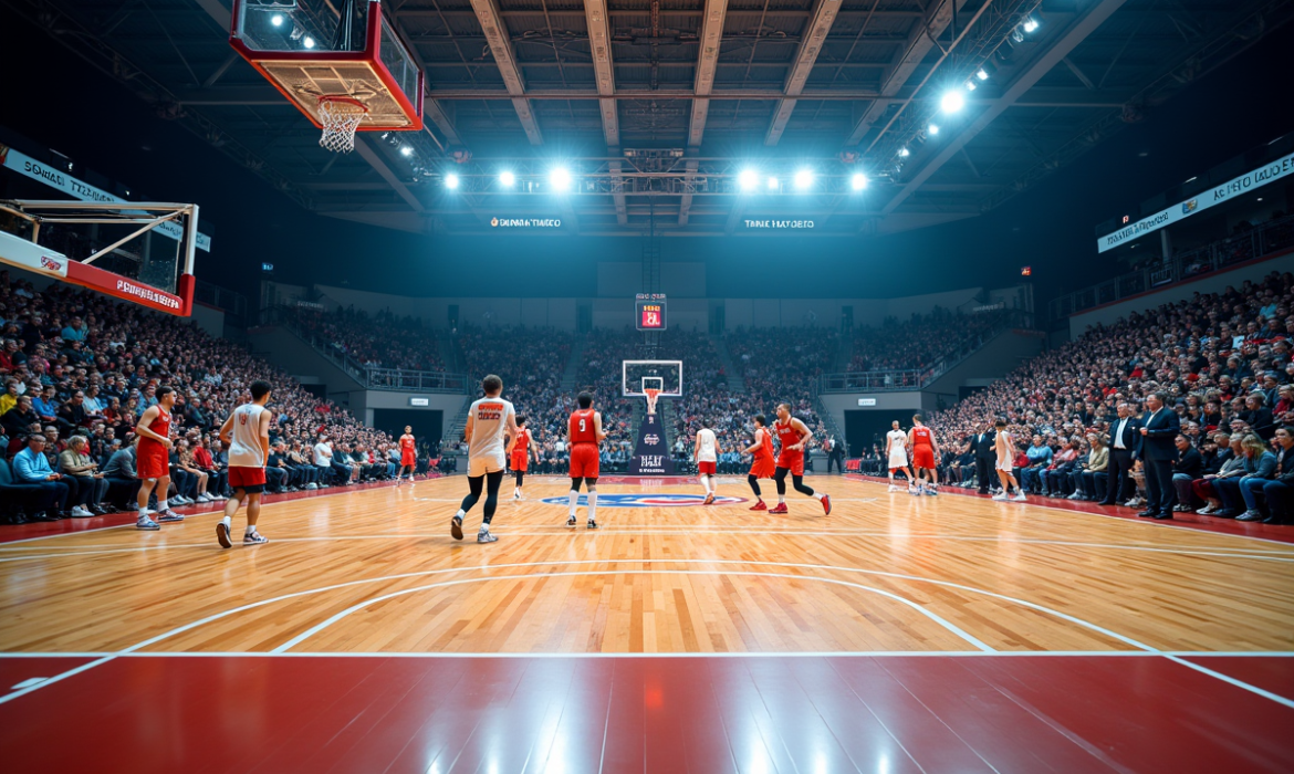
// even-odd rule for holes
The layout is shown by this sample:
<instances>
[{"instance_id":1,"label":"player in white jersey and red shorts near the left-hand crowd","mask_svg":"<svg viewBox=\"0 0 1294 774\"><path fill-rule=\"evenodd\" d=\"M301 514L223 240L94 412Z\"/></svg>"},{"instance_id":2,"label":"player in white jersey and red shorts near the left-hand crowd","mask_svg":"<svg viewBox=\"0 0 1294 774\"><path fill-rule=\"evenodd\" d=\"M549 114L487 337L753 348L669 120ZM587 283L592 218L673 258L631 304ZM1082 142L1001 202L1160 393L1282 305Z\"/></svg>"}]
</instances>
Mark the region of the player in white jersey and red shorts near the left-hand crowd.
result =
<instances>
[{"instance_id":1,"label":"player in white jersey and red shorts near the left-hand crowd","mask_svg":"<svg viewBox=\"0 0 1294 774\"><path fill-rule=\"evenodd\" d=\"M238 506L247 501L247 531L243 545L259 545L269 540L256 532L260 518L260 496L265 491L265 462L269 459L269 423L273 418L269 403L269 384L251 383L251 403L234 409L220 426L220 440L229 447L229 488L234 496L225 502L225 518L216 523L216 540L221 547L233 547L229 531Z\"/></svg>"}]
</instances>

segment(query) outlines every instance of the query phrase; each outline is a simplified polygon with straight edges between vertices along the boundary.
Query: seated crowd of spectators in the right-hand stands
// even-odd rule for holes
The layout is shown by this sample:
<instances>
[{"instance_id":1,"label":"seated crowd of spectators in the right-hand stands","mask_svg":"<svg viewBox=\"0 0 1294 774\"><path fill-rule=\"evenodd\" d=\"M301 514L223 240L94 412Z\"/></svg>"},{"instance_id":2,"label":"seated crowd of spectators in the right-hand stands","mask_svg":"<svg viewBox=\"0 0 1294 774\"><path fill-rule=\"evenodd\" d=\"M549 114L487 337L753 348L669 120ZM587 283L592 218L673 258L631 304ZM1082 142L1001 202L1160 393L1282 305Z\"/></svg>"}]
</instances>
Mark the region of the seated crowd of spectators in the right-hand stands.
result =
<instances>
[{"instance_id":1,"label":"seated crowd of spectators in the right-hand stands","mask_svg":"<svg viewBox=\"0 0 1294 774\"><path fill-rule=\"evenodd\" d=\"M930 425L945 449L941 467L946 480L983 488L973 439L1002 417L1018 439L1016 472L1027 492L1099 501L1119 496L1143 505L1143 461L1117 492L1106 480L1110 426L1121 417L1144 419L1152 393L1167 397L1181 427L1176 511L1198 507L1206 515L1269 522L1294 516L1294 502L1286 502L1294 500L1294 453L1288 462L1285 453L1294 427L1290 273L1273 272L1220 294L1197 293L1097 326L937 412ZM877 452L867 454L864 467L876 466Z\"/></svg>"}]
</instances>

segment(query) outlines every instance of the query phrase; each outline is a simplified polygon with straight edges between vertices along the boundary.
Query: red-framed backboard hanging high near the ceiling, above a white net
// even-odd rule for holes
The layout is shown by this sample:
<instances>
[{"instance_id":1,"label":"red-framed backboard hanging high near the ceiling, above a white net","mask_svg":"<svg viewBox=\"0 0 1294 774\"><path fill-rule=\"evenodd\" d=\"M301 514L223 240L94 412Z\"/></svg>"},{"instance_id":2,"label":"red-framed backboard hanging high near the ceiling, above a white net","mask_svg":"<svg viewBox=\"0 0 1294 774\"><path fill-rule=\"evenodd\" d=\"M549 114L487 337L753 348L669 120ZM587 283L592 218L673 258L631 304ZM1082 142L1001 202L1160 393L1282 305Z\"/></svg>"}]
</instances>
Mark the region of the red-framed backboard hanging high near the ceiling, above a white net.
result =
<instances>
[{"instance_id":1,"label":"red-framed backboard hanging high near the ceiling, above a white net","mask_svg":"<svg viewBox=\"0 0 1294 774\"><path fill-rule=\"evenodd\" d=\"M344 35L340 1L234 0L229 44L318 128L321 100L348 97L367 109L356 131L421 129L422 67L380 3L357 6Z\"/></svg>"}]
</instances>

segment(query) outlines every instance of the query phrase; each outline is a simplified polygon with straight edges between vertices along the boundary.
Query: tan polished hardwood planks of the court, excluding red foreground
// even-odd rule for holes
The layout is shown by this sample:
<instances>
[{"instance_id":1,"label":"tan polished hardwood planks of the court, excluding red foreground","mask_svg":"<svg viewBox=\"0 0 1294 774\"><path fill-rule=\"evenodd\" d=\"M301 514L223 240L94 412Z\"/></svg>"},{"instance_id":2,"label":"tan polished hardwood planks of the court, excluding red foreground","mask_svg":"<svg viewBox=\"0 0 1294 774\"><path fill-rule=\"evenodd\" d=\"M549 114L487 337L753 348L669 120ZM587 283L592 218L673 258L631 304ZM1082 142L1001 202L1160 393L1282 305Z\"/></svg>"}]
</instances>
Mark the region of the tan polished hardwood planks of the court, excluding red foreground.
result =
<instances>
[{"instance_id":1,"label":"tan polished hardwood planks of the court, excluding red foreground","mask_svg":"<svg viewBox=\"0 0 1294 774\"><path fill-rule=\"evenodd\" d=\"M565 481L532 478L479 545L448 478L268 505L261 546L220 549L216 514L3 544L0 651L1294 651L1294 545L810 481L829 516L604 483L602 528L569 529Z\"/></svg>"}]
</instances>

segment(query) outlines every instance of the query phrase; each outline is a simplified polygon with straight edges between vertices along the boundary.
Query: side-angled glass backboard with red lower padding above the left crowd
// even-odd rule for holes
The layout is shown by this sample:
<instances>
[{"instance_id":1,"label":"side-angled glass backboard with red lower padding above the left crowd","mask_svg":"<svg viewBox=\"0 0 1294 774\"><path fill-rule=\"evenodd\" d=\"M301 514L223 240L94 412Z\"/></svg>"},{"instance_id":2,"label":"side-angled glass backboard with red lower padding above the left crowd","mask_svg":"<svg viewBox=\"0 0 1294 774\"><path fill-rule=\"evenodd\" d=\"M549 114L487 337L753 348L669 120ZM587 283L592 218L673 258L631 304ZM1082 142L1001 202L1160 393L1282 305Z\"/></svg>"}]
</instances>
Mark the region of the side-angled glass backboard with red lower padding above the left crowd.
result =
<instances>
[{"instance_id":1,"label":"side-angled glass backboard with red lower padding above the left crowd","mask_svg":"<svg viewBox=\"0 0 1294 774\"><path fill-rule=\"evenodd\" d=\"M0 264L188 317L198 206L0 201Z\"/></svg>"}]
</instances>

